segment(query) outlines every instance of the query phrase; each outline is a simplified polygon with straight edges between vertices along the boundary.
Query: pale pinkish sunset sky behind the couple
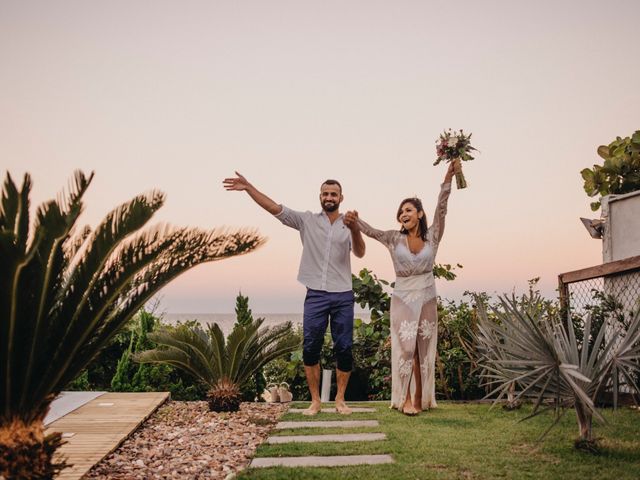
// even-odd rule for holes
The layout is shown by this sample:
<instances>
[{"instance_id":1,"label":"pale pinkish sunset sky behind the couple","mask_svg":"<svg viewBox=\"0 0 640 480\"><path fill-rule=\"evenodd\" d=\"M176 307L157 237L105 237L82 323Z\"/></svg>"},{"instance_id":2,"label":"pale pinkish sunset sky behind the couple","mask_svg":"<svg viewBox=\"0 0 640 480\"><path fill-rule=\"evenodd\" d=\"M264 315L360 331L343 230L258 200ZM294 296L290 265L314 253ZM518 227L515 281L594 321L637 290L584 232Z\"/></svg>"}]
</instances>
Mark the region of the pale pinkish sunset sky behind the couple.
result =
<instances>
[{"instance_id":1,"label":"pale pinkish sunset sky behind the couple","mask_svg":"<svg viewBox=\"0 0 640 480\"><path fill-rule=\"evenodd\" d=\"M275 201L397 228L401 199L427 215L446 167L445 128L480 150L453 190L438 293L554 296L559 273L602 262L580 170L640 129L640 2L0 2L0 170L32 175L32 205L95 171L83 223L134 195L167 194L154 221L254 227L268 242L194 268L160 294L168 313L302 311L298 232L222 180L235 170ZM367 241L353 272L393 280Z\"/></svg>"}]
</instances>

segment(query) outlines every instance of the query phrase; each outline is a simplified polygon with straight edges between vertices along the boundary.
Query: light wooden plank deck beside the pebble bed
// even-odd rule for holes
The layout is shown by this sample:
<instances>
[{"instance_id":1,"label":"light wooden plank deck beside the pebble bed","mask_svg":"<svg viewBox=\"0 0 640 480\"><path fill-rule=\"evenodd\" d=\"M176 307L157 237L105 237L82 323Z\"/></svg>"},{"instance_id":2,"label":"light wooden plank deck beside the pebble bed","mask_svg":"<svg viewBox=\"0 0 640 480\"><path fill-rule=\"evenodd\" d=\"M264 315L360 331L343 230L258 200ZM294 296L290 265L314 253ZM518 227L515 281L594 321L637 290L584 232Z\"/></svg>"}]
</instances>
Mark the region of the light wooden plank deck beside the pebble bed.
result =
<instances>
[{"instance_id":1,"label":"light wooden plank deck beside the pebble bed","mask_svg":"<svg viewBox=\"0 0 640 480\"><path fill-rule=\"evenodd\" d=\"M62 432L67 441L57 454L73 464L57 478L81 478L168 398L168 392L105 393L51 423L47 433Z\"/></svg>"}]
</instances>

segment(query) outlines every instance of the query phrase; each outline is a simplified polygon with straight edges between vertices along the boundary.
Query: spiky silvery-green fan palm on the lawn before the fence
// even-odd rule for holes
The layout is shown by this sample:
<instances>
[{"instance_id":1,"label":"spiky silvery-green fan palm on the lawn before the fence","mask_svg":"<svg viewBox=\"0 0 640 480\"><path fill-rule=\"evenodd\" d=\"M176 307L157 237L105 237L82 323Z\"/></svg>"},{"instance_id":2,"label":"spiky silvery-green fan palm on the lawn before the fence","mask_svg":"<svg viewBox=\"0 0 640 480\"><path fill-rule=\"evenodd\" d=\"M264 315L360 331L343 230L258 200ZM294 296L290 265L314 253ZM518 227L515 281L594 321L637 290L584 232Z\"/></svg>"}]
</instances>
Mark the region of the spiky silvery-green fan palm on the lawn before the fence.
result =
<instances>
[{"instance_id":1,"label":"spiky silvery-green fan palm on the lawn before the fence","mask_svg":"<svg viewBox=\"0 0 640 480\"><path fill-rule=\"evenodd\" d=\"M502 308L493 308L495 319L489 318L483 302L477 302L479 364L486 384L494 387L487 396L498 394L498 402L512 385L518 385L515 401L534 400L533 412L526 418L554 409L555 421L547 432L574 408L579 430L576 446L594 448L592 420L605 422L595 407L598 394L613 387L617 406L620 378L638 391L634 376L640 371L640 309L622 339L604 323L590 342L587 316L580 344L573 322L563 322L559 314L541 308L539 296L532 296L527 305L515 297L501 297L500 302Z\"/></svg>"}]
</instances>

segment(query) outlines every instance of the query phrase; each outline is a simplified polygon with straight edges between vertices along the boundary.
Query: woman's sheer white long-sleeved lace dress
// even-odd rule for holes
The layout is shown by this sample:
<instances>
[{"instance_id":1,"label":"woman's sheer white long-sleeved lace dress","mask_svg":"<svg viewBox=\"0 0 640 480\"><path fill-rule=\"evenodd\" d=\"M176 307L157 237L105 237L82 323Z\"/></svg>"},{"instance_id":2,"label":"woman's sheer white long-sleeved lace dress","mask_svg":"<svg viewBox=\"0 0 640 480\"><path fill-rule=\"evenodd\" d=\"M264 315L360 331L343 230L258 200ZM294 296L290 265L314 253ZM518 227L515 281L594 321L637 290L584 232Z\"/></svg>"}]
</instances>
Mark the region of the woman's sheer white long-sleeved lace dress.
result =
<instances>
[{"instance_id":1,"label":"woman's sheer white long-sleeved lace dress","mask_svg":"<svg viewBox=\"0 0 640 480\"><path fill-rule=\"evenodd\" d=\"M391 297L391 406L402 408L411 382L416 348L422 380L422 408L436 407L435 360L438 343L438 309L433 265L444 231L451 183L443 183L427 241L416 254L407 236L397 230L377 230L359 220L365 235L384 244L396 272ZM411 391L415 382L411 382Z\"/></svg>"}]
</instances>

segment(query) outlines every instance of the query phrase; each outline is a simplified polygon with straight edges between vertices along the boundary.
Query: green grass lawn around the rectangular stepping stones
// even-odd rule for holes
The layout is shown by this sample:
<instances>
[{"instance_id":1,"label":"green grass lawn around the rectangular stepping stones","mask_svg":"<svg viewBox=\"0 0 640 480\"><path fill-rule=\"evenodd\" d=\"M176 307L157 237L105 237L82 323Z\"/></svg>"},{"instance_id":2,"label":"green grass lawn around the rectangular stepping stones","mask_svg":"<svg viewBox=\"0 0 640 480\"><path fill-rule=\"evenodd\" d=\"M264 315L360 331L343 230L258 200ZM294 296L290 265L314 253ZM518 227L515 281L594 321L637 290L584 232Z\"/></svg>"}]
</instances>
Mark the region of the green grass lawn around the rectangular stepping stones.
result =
<instances>
[{"instance_id":1,"label":"green grass lawn around the rectangular stepping stones","mask_svg":"<svg viewBox=\"0 0 640 480\"><path fill-rule=\"evenodd\" d=\"M392 454L395 464L339 468L249 469L239 479L638 479L640 478L640 411L604 411L607 425L594 425L602 453L577 451L573 441L577 423L567 412L544 441L538 437L552 421L551 414L517 423L530 411L523 407L489 411L486 404L440 402L439 408L418 417L389 410L388 403L353 404L376 408L376 413L353 414L350 420L378 420L379 427L359 429L296 429L273 435L383 432L387 440L358 443L263 444L256 457L304 455ZM306 404L294 404L305 407ZM344 420L322 413L315 420ZM309 420L287 413L281 420Z\"/></svg>"}]
</instances>

